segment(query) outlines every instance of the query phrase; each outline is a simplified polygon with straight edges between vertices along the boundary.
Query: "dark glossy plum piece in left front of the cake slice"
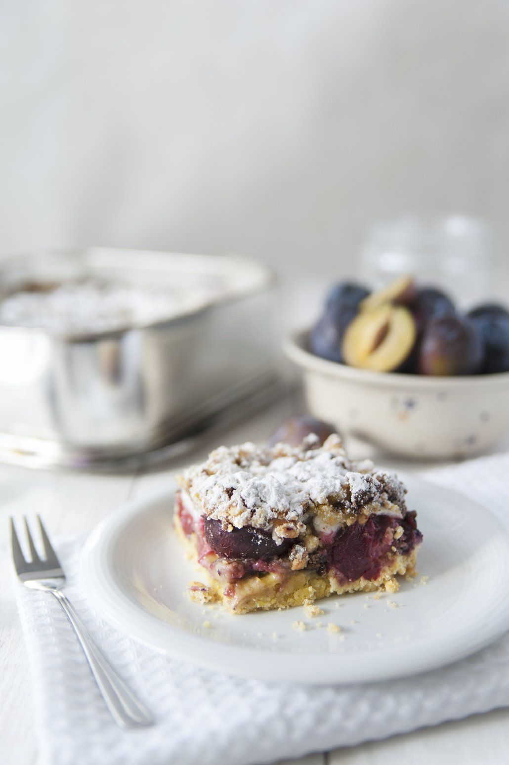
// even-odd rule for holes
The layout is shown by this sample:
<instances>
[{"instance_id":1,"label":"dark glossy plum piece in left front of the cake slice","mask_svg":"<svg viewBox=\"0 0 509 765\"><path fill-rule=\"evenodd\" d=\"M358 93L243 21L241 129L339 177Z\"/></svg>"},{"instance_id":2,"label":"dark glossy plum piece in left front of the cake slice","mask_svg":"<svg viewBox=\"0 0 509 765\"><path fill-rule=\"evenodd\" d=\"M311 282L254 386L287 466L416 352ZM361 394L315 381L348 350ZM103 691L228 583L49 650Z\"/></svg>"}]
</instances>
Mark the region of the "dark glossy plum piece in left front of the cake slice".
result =
<instances>
[{"instance_id":1,"label":"dark glossy plum piece in left front of the cake slice","mask_svg":"<svg viewBox=\"0 0 509 765\"><path fill-rule=\"evenodd\" d=\"M289 551L295 541L294 539L283 539L281 544L277 545L269 532L252 529L250 526L227 531L220 521L210 518L205 520L204 533L214 552L230 560L236 558L265 560L266 558L281 557Z\"/></svg>"}]
</instances>

